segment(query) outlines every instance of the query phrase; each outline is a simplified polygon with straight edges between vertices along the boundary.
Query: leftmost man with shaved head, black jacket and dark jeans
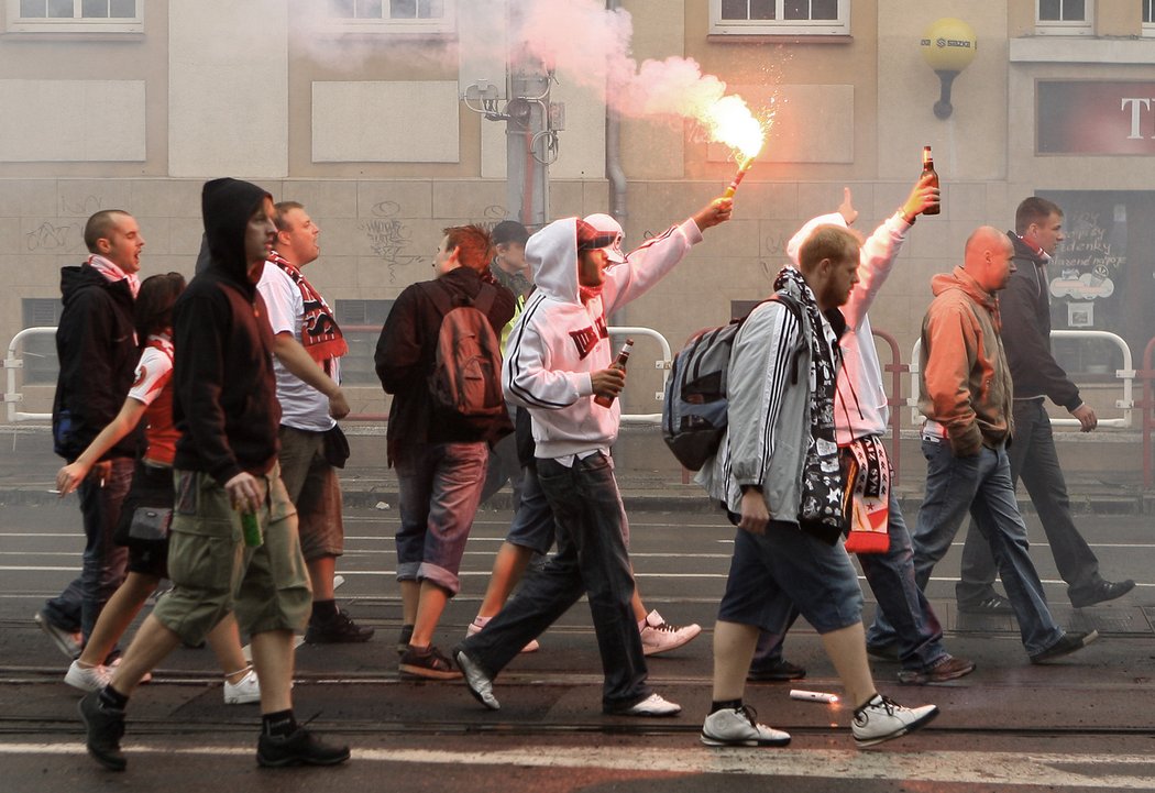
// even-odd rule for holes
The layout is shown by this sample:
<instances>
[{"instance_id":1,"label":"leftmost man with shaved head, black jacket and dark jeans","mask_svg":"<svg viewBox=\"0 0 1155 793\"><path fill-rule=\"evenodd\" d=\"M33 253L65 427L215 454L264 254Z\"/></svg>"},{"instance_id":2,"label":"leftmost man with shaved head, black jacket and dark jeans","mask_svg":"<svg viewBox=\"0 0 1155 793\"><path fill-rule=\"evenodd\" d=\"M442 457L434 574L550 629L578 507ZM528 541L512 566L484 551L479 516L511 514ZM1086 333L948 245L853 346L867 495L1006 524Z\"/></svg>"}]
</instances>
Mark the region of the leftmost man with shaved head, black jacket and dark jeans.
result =
<instances>
[{"instance_id":1,"label":"leftmost man with shaved head, black jacket and dark jeans","mask_svg":"<svg viewBox=\"0 0 1155 793\"><path fill-rule=\"evenodd\" d=\"M84 263L60 270L64 312L57 327L60 374L52 435L55 452L69 463L116 418L140 358L133 304L144 238L136 219L119 209L96 212L84 225L84 245L90 254ZM125 578L128 549L113 541L112 532L128 494L137 440L136 432L121 439L81 484L81 575L36 614L40 629L69 659L83 649L100 609Z\"/></svg>"}]
</instances>

